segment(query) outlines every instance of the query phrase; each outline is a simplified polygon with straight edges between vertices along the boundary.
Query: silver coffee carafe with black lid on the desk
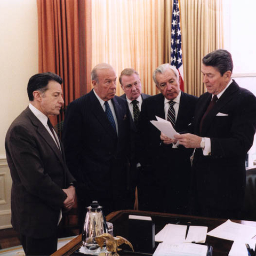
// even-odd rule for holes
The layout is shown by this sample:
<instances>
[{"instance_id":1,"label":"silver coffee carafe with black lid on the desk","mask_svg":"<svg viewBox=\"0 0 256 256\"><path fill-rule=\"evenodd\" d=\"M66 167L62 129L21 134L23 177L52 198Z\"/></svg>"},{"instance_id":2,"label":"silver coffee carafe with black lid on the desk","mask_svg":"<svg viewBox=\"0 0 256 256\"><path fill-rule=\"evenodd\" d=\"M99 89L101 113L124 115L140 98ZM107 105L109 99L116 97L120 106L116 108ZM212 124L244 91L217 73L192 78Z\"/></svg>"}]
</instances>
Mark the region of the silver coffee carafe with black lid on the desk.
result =
<instances>
[{"instance_id":1,"label":"silver coffee carafe with black lid on the desk","mask_svg":"<svg viewBox=\"0 0 256 256\"><path fill-rule=\"evenodd\" d=\"M87 213L85 216L82 243L83 249L87 254L99 254L106 252L106 247L101 249L94 237L108 233L107 222L102 212L102 206L97 201L93 201L89 207L87 207Z\"/></svg>"}]
</instances>

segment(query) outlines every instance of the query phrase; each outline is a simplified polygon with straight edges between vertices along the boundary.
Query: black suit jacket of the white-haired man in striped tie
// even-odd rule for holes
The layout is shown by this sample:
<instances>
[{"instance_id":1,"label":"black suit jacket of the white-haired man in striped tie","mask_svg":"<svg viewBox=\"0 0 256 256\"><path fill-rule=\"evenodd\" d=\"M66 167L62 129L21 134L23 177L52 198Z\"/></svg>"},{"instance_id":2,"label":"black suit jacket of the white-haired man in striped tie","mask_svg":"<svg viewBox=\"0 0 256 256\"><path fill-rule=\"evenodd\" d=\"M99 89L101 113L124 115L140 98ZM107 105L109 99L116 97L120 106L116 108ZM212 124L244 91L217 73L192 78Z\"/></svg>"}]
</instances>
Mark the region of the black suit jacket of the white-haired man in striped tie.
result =
<instances>
[{"instance_id":1,"label":"black suit jacket of the white-haired man in striped tie","mask_svg":"<svg viewBox=\"0 0 256 256\"><path fill-rule=\"evenodd\" d=\"M198 98L181 92L179 113L175 125L175 130L183 132L188 130L193 116ZM140 178L141 189L138 188L139 194L146 191L146 186L154 187L155 190L151 195L150 204L155 201L155 207L159 204L165 205L162 209L147 209L147 210L161 210L161 211L176 211L179 208L187 206L188 193L190 187L190 155L191 149L186 149L183 146L172 148L172 145L161 145L161 132L150 123L151 120L156 120L155 116L165 119L164 113L164 96L157 94L155 96L145 99L142 103L142 109L139 118L139 155L140 163L143 170ZM140 187L139 186L139 187ZM161 191L157 195L157 191ZM157 195L157 196L156 196ZM143 196L142 196L143 197ZM153 199L154 197L154 199ZM157 197L157 198L156 198ZM166 199L167 202L159 202L159 199ZM139 204L143 201L139 198ZM147 204L147 202L146 202ZM170 206L172 204L172 206ZM186 208L186 207L185 207Z\"/></svg>"}]
</instances>

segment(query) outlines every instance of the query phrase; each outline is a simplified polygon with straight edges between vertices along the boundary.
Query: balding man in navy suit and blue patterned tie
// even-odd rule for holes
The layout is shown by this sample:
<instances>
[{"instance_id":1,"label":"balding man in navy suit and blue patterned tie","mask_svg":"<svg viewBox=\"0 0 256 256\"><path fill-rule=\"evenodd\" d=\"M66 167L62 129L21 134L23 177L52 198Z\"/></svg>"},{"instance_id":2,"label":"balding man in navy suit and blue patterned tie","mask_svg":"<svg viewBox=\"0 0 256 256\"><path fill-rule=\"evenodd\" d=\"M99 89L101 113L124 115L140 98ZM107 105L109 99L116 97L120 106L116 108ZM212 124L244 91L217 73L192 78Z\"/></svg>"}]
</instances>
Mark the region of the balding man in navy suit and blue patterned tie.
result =
<instances>
[{"instance_id":1,"label":"balding man in navy suit and blue patterned tie","mask_svg":"<svg viewBox=\"0 0 256 256\"><path fill-rule=\"evenodd\" d=\"M132 208L129 110L116 97L116 73L107 63L91 72L93 90L71 102L63 127L67 164L77 179L79 223L97 200L105 214ZM133 198L134 199L134 198Z\"/></svg>"}]
</instances>

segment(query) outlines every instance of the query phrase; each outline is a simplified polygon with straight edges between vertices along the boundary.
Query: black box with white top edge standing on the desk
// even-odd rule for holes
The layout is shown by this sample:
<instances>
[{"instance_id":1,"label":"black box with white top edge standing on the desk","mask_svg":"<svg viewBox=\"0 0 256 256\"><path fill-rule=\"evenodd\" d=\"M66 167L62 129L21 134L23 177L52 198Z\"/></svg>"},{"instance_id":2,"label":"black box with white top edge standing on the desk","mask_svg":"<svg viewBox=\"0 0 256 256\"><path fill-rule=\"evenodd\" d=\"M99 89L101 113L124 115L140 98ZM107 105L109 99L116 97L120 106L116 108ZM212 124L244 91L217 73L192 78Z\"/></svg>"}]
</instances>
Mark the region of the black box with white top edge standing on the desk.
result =
<instances>
[{"instance_id":1,"label":"black box with white top edge standing on the desk","mask_svg":"<svg viewBox=\"0 0 256 256\"><path fill-rule=\"evenodd\" d=\"M135 252L152 252L155 248L155 224L150 217L129 215L129 241Z\"/></svg>"}]
</instances>

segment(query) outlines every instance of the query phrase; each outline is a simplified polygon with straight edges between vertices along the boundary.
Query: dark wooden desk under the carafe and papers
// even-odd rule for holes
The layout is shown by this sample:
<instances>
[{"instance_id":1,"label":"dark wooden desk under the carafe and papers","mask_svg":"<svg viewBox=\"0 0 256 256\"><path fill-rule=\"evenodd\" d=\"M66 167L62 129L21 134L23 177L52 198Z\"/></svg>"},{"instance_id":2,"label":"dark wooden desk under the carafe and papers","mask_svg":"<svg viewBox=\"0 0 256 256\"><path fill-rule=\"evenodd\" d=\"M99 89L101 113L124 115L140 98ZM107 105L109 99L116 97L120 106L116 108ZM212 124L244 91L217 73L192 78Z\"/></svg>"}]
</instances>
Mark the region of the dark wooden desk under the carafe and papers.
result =
<instances>
[{"instance_id":1,"label":"dark wooden desk under the carafe and papers","mask_svg":"<svg viewBox=\"0 0 256 256\"><path fill-rule=\"evenodd\" d=\"M178 215L178 214L168 214L168 213L158 213L158 212L146 212L146 211L135 211L135 210L124 210L112 212L107 215L106 220L112 222L114 225L114 235L120 235L128 238L128 217L129 214L150 216L155 223L156 234L165 226L166 223L177 223L186 225L187 221L191 222L193 226L207 226L208 232L212 229L218 227L226 219L212 219L203 218L189 215ZM244 220L232 220L237 223L242 223L244 225L250 225L256 227L255 221L244 221ZM225 239L215 238L212 236L206 237L206 243L213 247L213 256L227 256L233 241L228 241ZM52 255L72 255L79 247L82 245L82 236L79 235L71 240L68 244L63 246L61 249L53 253ZM121 253L121 255L123 255ZM124 255L135 255L127 254ZM138 255L138 254L137 254ZM150 254L148 254L150 255Z\"/></svg>"}]
</instances>

